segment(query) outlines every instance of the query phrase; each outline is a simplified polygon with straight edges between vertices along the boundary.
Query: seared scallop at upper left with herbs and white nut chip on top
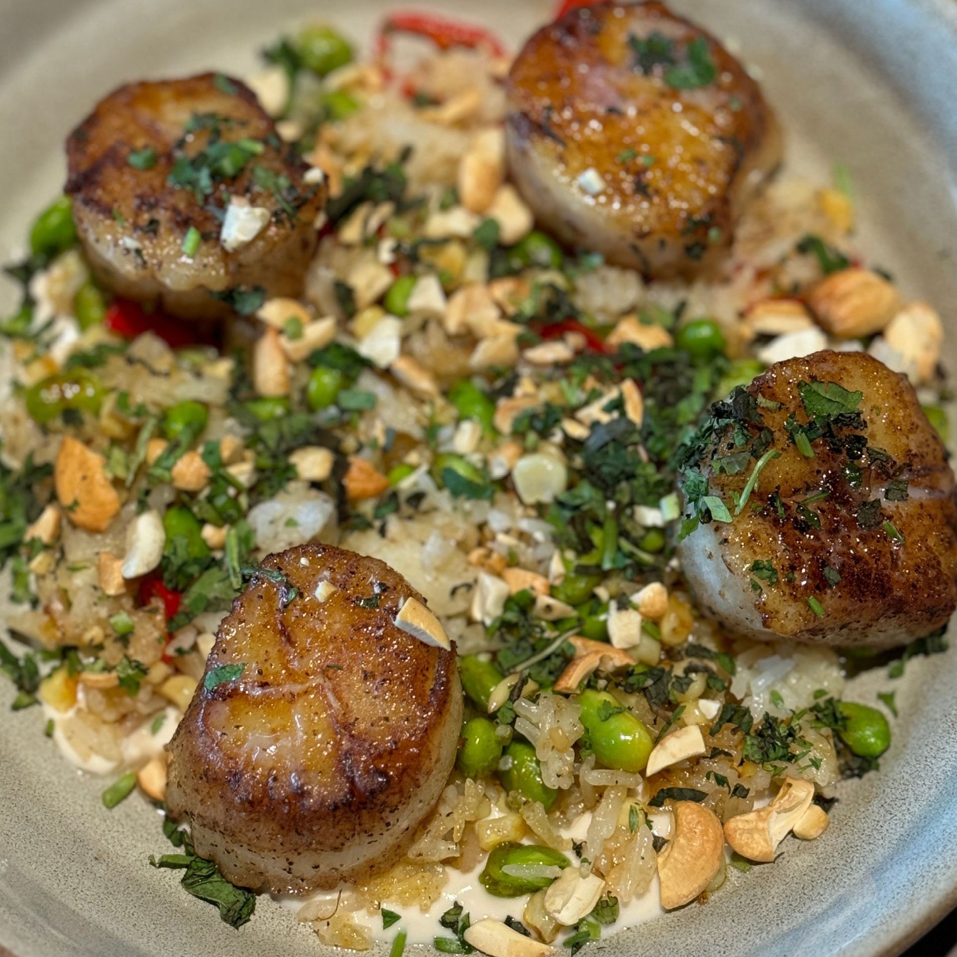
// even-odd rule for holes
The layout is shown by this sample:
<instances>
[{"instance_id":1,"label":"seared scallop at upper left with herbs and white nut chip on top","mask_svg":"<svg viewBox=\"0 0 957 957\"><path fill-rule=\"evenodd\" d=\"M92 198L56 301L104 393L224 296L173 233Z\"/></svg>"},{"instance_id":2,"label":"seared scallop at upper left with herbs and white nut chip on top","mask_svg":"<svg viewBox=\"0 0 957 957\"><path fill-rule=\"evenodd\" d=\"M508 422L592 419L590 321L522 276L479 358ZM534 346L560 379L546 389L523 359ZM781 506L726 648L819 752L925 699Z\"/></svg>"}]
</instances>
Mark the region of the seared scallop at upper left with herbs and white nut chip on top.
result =
<instances>
[{"instance_id":1,"label":"seared scallop at upper left with herbs and white nut chip on top","mask_svg":"<svg viewBox=\"0 0 957 957\"><path fill-rule=\"evenodd\" d=\"M122 86L70 135L67 161L83 249L118 295L214 318L243 287L300 293L323 186L238 80Z\"/></svg>"}]
</instances>

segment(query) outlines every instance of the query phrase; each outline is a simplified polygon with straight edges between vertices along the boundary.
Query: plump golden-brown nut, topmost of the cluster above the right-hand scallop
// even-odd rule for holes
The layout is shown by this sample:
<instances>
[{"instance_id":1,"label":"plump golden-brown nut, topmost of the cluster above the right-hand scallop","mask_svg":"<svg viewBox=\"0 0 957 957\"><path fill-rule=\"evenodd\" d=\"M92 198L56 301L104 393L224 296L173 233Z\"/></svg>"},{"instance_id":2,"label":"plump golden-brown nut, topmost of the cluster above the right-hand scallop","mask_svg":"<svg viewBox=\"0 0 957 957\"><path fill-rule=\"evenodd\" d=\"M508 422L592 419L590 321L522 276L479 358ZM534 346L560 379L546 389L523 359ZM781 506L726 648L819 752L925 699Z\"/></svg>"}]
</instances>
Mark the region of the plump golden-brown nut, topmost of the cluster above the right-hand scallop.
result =
<instances>
[{"instance_id":1,"label":"plump golden-brown nut, topmost of the cluster above the right-hand scallop","mask_svg":"<svg viewBox=\"0 0 957 957\"><path fill-rule=\"evenodd\" d=\"M852 267L818 282L808 304L826 331L838 339L857 339L887 325L901 308L901 297L877 273Z\"/></svg>"}]
</instances>

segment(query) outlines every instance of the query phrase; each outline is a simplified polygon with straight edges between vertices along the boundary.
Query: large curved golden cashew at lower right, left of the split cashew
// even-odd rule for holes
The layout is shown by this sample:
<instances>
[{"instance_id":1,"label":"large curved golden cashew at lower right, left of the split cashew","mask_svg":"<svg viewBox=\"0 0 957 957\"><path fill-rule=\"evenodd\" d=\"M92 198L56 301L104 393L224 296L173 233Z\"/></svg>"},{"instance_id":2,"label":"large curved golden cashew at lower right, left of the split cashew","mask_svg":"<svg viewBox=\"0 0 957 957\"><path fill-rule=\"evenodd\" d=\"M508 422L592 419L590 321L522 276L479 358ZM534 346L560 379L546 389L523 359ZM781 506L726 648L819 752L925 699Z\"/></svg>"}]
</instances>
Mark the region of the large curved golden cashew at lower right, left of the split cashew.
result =
<instances>
[{"instance_id":1,"label":"large curved golden cashew at lower right, left of the split cashew","mask_svg":"<svg viewBox=\"0 0 957 957\"><path fill-rule=\"evenodd\" d=\"M665 910L694 901L721 870L724 835L713 811L694 801L673 808L671 840L657 857L661 906Z\"/></svg>"}]
</instances>

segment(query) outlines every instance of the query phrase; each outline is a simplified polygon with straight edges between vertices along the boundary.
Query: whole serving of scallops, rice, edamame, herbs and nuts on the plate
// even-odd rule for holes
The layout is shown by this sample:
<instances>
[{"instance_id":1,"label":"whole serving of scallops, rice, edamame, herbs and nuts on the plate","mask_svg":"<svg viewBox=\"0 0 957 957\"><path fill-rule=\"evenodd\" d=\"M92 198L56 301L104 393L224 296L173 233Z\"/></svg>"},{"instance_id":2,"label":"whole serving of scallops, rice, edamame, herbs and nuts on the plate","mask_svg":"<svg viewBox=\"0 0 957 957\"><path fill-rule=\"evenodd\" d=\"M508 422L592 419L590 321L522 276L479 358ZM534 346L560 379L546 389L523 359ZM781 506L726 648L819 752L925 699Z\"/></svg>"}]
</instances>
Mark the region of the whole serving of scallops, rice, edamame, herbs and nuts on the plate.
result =
<instances>
[{"instance_id":1,"label":"whole serving of scallops, rice, edamame, herbs and nuts on the plate","mask_svg":"<svg viewBox=\"0 0 957 957\"><path fill-rule=\"evenodd\" d=\"M71 137L0 323L0 669L163 810L157 893L575 952L826 854L896 759L955 602L944 326L659 4L370 47Z\"/></svg>"}]
</instances>

